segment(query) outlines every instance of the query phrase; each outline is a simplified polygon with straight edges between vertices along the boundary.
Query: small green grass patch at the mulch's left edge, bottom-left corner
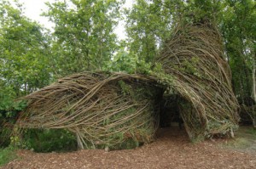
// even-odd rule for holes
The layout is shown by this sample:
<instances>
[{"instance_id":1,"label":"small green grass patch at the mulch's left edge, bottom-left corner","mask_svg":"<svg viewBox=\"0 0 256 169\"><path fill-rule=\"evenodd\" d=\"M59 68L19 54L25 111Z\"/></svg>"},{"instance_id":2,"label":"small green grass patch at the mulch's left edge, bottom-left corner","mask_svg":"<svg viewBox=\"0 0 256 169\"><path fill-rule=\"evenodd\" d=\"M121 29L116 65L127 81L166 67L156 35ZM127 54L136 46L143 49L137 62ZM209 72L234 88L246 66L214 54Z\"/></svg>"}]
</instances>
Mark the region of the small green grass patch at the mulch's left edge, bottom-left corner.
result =
<instances>
[{"instance_id":1,"label":"small green grass patch at the mulch's left edge, bottom-left corner","mask_svg":"<svg viewBox=\"0 0 256 169\"><path fill-rule=\"evenodd\" d=\"M14 161L17 157L15 148L13 147L0 149L0 166L9 163L9 161Z\"/></svg>"}]
</instances>

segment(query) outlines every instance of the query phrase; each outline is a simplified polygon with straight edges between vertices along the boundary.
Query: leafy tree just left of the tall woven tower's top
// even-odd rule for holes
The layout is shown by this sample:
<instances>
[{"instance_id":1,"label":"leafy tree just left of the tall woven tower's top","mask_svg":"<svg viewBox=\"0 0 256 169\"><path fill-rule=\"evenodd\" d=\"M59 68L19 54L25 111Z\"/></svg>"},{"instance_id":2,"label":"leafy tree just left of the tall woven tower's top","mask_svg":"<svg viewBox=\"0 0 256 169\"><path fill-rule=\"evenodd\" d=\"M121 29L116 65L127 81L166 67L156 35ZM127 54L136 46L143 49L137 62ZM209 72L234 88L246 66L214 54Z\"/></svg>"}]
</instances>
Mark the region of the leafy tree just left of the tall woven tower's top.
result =
<instances>
[{"instance_id":1,"label":"leafy tree just left of the tall woven tower's top","mask_svg":"<svg viewBox=\"0 0 256 169\"><path fill-rule=\"evenodd\" d=\"M172 17L167 1L137 0L131 10L125 9L128 49L139 60L152 62L160 46L169 37Z\"/></svg>"}]
</instances>

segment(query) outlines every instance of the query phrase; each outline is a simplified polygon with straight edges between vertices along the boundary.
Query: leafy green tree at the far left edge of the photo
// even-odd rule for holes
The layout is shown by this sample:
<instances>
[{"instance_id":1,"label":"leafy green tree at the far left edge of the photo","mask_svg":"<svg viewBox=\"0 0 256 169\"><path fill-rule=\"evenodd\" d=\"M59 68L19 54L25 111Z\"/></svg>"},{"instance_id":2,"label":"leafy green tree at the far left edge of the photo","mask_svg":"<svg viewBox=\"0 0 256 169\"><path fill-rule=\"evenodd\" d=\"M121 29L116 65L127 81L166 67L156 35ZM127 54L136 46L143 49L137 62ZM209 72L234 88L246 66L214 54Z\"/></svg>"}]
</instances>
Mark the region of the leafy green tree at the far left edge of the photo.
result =
<instances>
[{"instance_id":1,"label":"leafy green tree at the far left edge of the photo","mask_svg":"<svg viewBox=\"0 0 256 169\"><path fill-rule=\"evenodd\" d=\"M49 84L50 74L44 30L16 6L0 3L0 81L19 97Z\"/></svg>"}]
</instances>

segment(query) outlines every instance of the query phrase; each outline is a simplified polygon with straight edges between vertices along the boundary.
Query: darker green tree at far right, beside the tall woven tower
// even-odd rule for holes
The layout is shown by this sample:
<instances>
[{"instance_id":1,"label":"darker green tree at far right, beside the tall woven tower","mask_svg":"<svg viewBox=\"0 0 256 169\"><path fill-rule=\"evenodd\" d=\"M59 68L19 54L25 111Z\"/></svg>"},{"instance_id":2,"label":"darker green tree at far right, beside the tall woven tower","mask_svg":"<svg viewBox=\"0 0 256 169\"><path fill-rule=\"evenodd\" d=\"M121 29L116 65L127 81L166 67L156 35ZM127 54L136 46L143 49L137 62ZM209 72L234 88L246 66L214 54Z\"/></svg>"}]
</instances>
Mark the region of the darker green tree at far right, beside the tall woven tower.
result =
<instances>
[{"instance_id":1,"label":"darker green tree at far right, beside the tall woven tower","mask_svg":"<svg viewBox=\"0 0 256 169\"><path fill-rule=\"evenodd\" d=\"M226 1L220 26L233 72L233 86L236 95L240 97L255 95L255 5L252 0Z\"/></svg>"}]
</instances>

